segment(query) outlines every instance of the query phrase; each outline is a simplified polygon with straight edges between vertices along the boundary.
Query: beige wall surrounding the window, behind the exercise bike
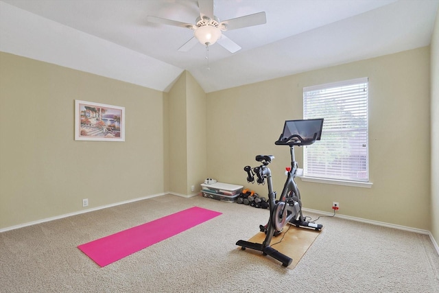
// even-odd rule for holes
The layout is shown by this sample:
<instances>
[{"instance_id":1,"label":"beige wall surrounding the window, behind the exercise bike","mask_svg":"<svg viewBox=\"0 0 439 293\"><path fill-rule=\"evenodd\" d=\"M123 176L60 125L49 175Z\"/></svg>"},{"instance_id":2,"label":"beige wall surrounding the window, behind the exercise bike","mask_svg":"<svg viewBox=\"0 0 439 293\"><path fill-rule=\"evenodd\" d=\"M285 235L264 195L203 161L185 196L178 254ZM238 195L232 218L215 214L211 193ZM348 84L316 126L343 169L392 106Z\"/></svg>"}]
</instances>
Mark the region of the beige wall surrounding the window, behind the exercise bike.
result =
<instances>
[{"instance_id":1,"label":"beige wall surrounding the window, behind the exercise bike","mask_svg":"<svg viewBox=\"0 0 439 293\"><path fill-rule=\"evenodd\" d=\"M286 119L302 118L302 88L369 78L369 154L372 188L302 182L304 206L430 230L429 47L309 71L207 94L209 176L251 187L245 165L257 154L274 154L270 165L281 192L289 149L274 145ZM239 127L237 127L239 126ZM302 149L296 150L302 165Z\"/></svg>"}]
</instances>

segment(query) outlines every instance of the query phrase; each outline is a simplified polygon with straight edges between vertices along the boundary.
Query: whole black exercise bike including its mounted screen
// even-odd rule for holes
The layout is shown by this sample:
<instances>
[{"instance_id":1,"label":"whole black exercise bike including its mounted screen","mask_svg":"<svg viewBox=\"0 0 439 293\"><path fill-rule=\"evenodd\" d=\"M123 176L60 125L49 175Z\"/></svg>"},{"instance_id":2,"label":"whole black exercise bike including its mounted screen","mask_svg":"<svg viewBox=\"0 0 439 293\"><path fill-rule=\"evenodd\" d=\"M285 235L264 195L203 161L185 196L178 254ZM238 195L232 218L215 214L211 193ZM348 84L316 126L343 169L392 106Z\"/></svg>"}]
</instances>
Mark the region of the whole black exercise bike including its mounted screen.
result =
<instances>
[{"instance_id":1,"label":"whole black exercise bike including its mounted screen","mask_svg":"<svg viewBox=\"0 0 439 293\"><path fill-rule=\"evenodd\" d=\"M276 200L276 191L273 191L272 174L268 165L272 163L274 156L272 155L257 155L256 161L262 165L259 167L244 167L247 172L248 183L254 183L254 175L257 176L257 184L268 183L268 201L270 204L270 218L268 224L260 225L261 232L266 234L262 244L239 240L236 245L241 246L242 250L250 248L259 250L263 255L269 255L278 261L281 261L282 266L289 266L293 259L279 252L270 246L272 237L281 233L287 223L293 224L297 227L312 228L320 231L323 228L322 224L307 222L302 214L302 202L300 200L300 191L294 181L298 170L298 163L294 156L294 146L311 145L320 140L322 134L323 119L308 119L308 120L287 120L285 121L283 133L281 137L275 142L276 145L288 145L291 154L291 166L286 167L287 180L283 186L283 191L279 200Z\"/></svg>"}]
</instances>

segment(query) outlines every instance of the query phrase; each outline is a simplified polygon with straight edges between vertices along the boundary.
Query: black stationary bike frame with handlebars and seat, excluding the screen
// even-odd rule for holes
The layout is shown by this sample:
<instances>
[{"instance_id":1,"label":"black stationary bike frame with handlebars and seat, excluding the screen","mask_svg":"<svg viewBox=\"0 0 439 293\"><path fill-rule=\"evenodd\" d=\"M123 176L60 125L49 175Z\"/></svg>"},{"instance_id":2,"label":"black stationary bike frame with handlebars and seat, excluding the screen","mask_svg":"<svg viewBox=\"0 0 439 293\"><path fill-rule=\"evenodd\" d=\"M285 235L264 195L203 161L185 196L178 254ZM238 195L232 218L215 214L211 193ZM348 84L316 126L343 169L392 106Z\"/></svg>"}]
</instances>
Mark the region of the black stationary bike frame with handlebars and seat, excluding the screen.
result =
<instances>
[{"instance_id":1,"label":"black stationary bike frame with handlebars and seat, excluding the screen","mask_svg":"<svg viewBox=\"0 0 439 293\"><path fill-rule=\"evenodd\" d=\"M246 248L251 248L253 250L259 250L263 255L270 255L274 259L281 261L282 265L287 267L292 263L292 258L280 253L278 250L270 246L272 237L275 233L280 233L283 227L289 222L296 226L302 226L307 228L314 228L320 231L323 228L322 224L315 224L313 222L307 222L302 215L302 202L300 200L300 191L294 181L296 177L296 172L298 169L298 164L294 156L294 145L310 145L316 141L316 135L313 139L305 140L298 135L292 135L287 140L281 141L279 139L276 141L276 145L289 145L291 153L291 167L287 168L287 180L283 186L283 191L281 197L276 202L276 192L273 191L272 185L272 174L268 164L271 163L274 156L256 156L256 161L262 163L259 167L254 167L253 172L257 175L257 183L264 184L265 179L268 183L268 200L270 204L270 218L268 219L268 224L265 226L265 231L261 228L261 231L266 233L265 239L262 244L248 242L244 240L239 240L236 245L241 246L242 250ZM251 173L250 166L244 168L248 173L248 182L254 183L254 176ZM262 226L262 225L261 225Z\"/></svg>"}]
</instances>

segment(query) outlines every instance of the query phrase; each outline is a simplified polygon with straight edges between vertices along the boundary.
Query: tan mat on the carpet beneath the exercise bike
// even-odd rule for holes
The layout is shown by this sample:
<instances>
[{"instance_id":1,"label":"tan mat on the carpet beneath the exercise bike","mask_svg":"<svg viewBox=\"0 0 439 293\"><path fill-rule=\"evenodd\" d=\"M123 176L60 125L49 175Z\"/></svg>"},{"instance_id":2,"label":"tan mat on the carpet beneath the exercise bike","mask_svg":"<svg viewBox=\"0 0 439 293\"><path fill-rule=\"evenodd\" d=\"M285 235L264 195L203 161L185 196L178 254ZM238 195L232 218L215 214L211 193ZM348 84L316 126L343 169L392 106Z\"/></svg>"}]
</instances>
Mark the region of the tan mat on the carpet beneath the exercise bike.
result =
<instances>
[{"instance_id":1,"label":"tan mat on the carpet beneath the exercise bike","mask_svg":"<svg viewBox=\"0 0 439 293\"><path fill-rule=\"evenodd\" d=\"M320 231L311 230L308 228L297 228L293 225L287 225L283 229L282 233L277 237L273 237L270 246L278 250L278 252L291 257L293 262L287 266L289 270L293 269L296 264L300 261L303 255L307 252L308 248L313 244L314 240L318 237ZM262 244L265 239L265 233L259 232L250 239L249 242ZM241 249L241 248L239 248ZM269 256L264 256L261 251L252 250L250 248L246 249L246 252L254 253L267 259L268 261L273 261L274 263L280 263Z\"/></svg>"}]
</instances>

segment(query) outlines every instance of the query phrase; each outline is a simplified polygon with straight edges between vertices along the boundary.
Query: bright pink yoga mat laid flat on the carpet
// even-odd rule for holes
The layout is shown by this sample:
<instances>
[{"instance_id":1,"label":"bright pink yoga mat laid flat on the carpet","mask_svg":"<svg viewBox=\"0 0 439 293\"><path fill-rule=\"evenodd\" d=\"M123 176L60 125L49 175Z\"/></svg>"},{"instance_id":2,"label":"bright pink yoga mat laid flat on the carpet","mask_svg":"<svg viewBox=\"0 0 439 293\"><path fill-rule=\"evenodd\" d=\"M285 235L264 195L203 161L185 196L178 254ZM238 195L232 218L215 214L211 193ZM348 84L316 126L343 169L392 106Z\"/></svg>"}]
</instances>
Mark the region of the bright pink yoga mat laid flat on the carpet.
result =
<instances>
[{"instance_id":1,"label":"bright pink yoga mat laid flat on the carpet","mask_svg":"<svg viewBox=\"0 0 439 293\"><path fill-rule=\"evenodd\" d=\"M221 214L209 209L191 207L152 222L82 244L78 248L93 259L95 263L103 267Z\"/></svg>"}]
</instances>

